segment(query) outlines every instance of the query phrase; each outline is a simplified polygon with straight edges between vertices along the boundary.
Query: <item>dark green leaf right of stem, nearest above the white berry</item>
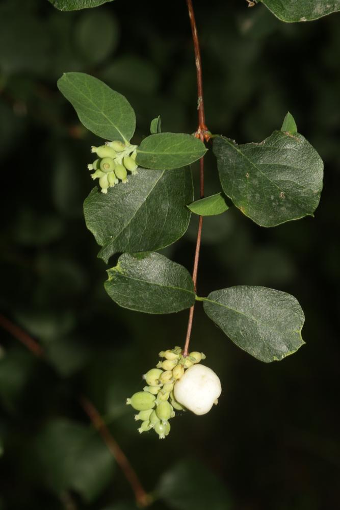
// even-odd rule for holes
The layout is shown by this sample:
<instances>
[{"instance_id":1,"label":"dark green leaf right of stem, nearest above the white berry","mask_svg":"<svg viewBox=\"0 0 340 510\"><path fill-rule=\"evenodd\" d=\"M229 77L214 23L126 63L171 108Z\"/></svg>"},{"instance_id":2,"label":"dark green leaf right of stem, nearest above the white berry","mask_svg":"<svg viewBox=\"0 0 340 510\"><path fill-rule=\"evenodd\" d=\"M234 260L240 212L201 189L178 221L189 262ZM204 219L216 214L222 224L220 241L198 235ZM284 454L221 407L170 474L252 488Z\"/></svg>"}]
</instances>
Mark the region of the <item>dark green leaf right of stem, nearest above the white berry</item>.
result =
<instances>
[{"instance_id":1,"label":"dark green leaf right of stem, nearest above the white berry","mask_svg":"<svg viewBox=\"0 0 340 510\"><path fill-rule=\"evenodd\" d=\"M303 312L286 292L239 286L211 292L202 300L206 315L223 333L260 361L280 361L304 344Z\"/></svg>"}]
</instances>

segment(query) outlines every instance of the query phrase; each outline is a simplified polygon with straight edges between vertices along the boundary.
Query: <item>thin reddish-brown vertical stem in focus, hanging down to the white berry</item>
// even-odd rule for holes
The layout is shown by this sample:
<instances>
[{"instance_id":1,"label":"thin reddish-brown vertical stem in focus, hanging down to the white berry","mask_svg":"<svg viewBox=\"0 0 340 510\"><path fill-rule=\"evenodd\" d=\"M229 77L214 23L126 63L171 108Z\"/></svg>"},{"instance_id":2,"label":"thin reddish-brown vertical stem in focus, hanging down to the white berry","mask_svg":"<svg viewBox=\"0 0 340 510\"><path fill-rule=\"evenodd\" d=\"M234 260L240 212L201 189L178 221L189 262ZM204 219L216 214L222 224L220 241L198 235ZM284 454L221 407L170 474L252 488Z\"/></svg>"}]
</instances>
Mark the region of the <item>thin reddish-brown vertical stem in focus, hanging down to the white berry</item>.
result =
<instances>
[{"instance_id":1,"label":"thin reddish-brown vertical stem in focus, hanging down to the white berry","mask_svg":"<svg viewBox=\"0 0 340 510\"><path fill-rule=\"evenodd\" d=\"M199 50L199 41L198 41L197 27L196 27L196 21L195 21L192 0L187 0L187 6L188 6L188 12L189 12L189 18L190 18L190 24L191 24L192 37L193 37L193 42L194 42L195 64L196 64L196 75L197 75L198 127L197 127L195 136L197 138L200 138L200 140L202 142L204 142L204 140L209 139L209 135L208 135L207 127L205 125L201 54L200 54L200 50ZM200 168L199 191L200 191L200 197L203 198L204 197L204 158L200 159L199 168ZM202 225L203 225L203 216L200 216L199 222L198 222L194 269L193 269L193 275L192 275L195 292L196 292L196 287L197 287L197 271L198 271L199 252L200 252L200 247L201 247ZM190 343L191 330L192 330L192 325L193 325L193 320L194 320L194 309L195 309L195 305L193 305L191 307L190 312L189 312L187 336L186 336L185 346L183 349L184 356L187 356L189 353L189 343Z\"/></svg>"}]
</instances>

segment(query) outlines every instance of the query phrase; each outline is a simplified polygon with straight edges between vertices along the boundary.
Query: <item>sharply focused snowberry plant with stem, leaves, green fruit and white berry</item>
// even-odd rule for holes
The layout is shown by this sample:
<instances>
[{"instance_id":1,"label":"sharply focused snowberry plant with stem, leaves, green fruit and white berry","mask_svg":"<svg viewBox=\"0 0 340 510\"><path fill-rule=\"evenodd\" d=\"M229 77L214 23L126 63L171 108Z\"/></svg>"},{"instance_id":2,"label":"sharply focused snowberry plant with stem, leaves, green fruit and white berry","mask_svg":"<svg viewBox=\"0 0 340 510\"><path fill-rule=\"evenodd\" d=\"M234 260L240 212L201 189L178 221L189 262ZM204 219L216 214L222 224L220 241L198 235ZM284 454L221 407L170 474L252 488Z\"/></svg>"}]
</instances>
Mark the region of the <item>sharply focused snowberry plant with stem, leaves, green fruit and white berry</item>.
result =
<instances>
[{"instance_id":1,"label":"sharply focused snowberry plant with stem, leaves, green fruit and white berry","mask_svg":"<svg viewBox=\"0 0 340 510\"><path fill-rule=\"evenodd\" d=\"M183 0L184 1L184 0ZM105 0L50 0L61 10L95 7ZM316 19L340 10L338 0L262 0L286 22ZM245 3L245 7L246 7ZM88 229L108 264L104 287L121 307L148 314L189 309L184 348L160 352L162 360L143 376L146 386L127 399L141 421L139 431L154 429L160 438L170 431L176 411L197 415L210 411L221 393L219 378L202 365L203 353L190 352L196 301L223 333L262 362L280 361L304 343L304 314L295 297L266 287L237 286L197 295L197 270L204 216L237 208L259 227L312 216L318 207L323 163L318 152L298 132L290 113L277 119L278 130L260 143L238 145L213 134L205 123L202 68L192 0L187 0L198 86L198 126L193 134L167 133L161 119L150 123L150 134L135 137L136 116L128 99L95 77L65 73L59 90L80 121L103 141L89 147L89 176L96 185L84 202ZM258 7L261 8L261 7ZM281 122L280 122L281 120ZM212 150L221 191L204 197L204 155ZM191 165L199 160L200 199L194 201ZM82 171L82 169L79 169ZM192 275L158 250L175 243L199 215ZM227 221L227 219L226 219ZM180 332L178 332L180 335Z\"/></svg>"}]
</instances>

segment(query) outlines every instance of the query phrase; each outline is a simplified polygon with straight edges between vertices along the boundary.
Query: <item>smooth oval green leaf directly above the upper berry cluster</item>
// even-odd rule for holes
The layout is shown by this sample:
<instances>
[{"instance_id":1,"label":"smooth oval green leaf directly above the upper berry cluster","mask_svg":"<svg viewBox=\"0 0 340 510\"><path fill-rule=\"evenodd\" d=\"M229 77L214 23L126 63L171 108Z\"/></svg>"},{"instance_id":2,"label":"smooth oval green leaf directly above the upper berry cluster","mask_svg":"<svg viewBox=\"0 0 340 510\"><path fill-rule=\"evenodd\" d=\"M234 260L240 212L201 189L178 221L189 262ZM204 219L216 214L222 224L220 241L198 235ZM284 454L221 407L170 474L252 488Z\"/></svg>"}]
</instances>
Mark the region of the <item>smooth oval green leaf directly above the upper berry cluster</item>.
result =
<instances>
[{"instance_id":1,"label":"smooth oval green leaf directly above the upper berry cluster","mask_svg":"<svg viewBox=\"0 0 340 510\"><path fill-rule=\"evenodd\" d=\"M106 140L130 141L136 129L136 116L124 96L83 72L64 73L58 88L92 133Z\"/></svg>"}]
</instances>

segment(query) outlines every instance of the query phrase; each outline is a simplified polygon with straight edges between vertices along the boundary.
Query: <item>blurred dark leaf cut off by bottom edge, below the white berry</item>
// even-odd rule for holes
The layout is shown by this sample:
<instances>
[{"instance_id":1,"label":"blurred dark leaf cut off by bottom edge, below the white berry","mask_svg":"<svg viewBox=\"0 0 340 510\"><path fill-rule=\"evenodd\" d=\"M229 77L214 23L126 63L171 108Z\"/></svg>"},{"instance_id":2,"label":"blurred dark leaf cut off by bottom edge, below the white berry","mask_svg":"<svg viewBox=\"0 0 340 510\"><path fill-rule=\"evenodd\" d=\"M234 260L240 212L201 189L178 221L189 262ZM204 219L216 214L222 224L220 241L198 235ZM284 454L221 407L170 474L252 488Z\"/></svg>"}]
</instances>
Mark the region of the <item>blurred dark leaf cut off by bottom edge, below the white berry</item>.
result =
<instances>
[{"instance_id":1,"label":"blurred dark leaf cut off by bottom edge, below the white berry","mask_svg":"<svg viewBox=\"0 0 340 510\"><path fill-rule=\"evenodd\" d=\"M164 473L156 494L174 510L229 510L232 507L222 480L197 459L181 460Z\"/></svg>"}]
</instances>

